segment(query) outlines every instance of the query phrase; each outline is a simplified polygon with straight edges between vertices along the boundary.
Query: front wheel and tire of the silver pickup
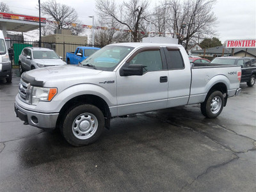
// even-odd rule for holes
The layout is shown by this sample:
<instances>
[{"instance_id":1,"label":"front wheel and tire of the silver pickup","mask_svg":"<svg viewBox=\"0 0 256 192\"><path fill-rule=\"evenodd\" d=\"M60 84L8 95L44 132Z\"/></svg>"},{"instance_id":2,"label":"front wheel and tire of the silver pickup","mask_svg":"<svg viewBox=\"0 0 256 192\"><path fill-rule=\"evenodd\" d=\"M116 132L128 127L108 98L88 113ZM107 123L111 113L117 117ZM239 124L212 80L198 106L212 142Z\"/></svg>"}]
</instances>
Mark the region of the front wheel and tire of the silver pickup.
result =
<instances>
[{"instance_id":1,"label":"front wheel and tire of the silver pickup","mask_svg":"<svg viewBox=\"0 0 256 192\"><path fill-rule=\"evenodd\" d=\"M71 108L60 126L65 140L76 147L96 141L104 129L104 115L91 104Z\"/></svg>"}]
</instances>

